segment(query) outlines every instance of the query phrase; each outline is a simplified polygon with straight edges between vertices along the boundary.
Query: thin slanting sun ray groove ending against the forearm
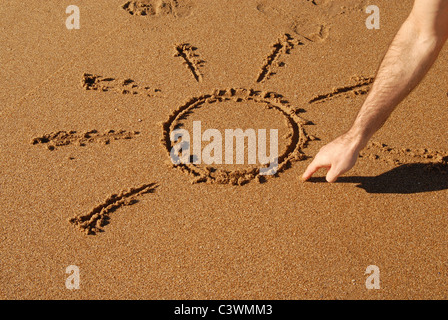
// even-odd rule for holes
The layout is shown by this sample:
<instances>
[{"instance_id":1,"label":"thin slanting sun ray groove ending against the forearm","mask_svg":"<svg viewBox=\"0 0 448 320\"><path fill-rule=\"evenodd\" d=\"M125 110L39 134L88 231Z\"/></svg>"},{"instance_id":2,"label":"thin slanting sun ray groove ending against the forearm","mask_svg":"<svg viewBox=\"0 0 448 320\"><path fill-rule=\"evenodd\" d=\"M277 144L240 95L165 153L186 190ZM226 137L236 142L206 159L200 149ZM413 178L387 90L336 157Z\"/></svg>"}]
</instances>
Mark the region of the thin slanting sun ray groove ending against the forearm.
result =
<instances>
[{"instance_id":1,"label":"thin slanting sun ray groove ending against the forearm","mask_svg":"<svg viewBox=\"0 0 448 320\"><path fill-rule=\"evenodd\" d=\"M320 94L308 101L309 104L327 102L336 98L353 98L369 93L370 87L375 78L373 77L352 77L351 85L333 88L331 92Z\"/></svg>"}]
</instances>

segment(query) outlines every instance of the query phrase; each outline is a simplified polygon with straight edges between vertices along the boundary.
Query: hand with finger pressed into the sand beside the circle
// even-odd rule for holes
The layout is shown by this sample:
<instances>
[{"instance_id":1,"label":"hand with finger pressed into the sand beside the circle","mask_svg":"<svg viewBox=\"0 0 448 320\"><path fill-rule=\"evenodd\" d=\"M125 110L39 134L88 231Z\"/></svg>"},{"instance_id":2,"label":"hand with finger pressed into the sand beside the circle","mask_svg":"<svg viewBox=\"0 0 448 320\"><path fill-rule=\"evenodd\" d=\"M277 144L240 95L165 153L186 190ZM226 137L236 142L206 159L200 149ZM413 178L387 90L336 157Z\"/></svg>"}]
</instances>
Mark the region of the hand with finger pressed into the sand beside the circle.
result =
<instances>
[{"instance_id":1,"label":"hand with finger pressed into the sand beside the circle","mask_svg":"<svg viewBox=\"0 0 448 320\"><path fill-rule=\"evenodd\" d=\"M358 139L350 133L340 136L320 149L302 175L302 180L307 181L320 168L328 168L327 181L335 182L340 175L353 168L361 149Z\"/></svg>"}]
</instances>

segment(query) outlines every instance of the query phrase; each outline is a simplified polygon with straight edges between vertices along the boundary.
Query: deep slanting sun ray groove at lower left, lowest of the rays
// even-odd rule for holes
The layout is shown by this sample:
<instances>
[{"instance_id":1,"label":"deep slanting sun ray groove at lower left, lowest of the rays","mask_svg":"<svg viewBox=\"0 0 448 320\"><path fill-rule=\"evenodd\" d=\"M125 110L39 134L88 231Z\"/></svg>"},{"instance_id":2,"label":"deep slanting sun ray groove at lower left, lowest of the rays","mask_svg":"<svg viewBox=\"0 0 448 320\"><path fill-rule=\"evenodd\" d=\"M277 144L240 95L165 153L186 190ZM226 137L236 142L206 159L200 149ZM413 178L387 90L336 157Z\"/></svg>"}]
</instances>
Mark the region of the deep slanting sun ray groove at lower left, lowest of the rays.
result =
<instances>
[{"instance_id":1,"label":"deep slanting sun ray groove at lower left, lowest of the rays","mask_svg":"<svg viewBox=\"0 0 448 320\"><path fill-rule=\"evenodd\" d=\"M109 224L110 214L121 207L130 206L138 202L137 198L148 193L155 192L155 183L143 184L136 188L123 190L118 194L108 196L102 203L94 207L88 213L69 219L69 222L87 235L95 235L104 232L102 229Z\"/></svg>"}]
</instances>

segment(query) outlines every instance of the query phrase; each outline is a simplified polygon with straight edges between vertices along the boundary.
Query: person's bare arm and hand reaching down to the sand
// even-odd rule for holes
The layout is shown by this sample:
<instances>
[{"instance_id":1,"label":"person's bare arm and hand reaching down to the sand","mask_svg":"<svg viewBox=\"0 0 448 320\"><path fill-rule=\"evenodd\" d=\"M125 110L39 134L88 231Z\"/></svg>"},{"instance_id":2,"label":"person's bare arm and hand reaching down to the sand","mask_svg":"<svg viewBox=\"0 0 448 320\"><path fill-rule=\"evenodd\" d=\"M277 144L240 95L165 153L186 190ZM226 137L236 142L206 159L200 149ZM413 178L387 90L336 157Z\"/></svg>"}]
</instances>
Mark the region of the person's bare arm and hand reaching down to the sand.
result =
<instances>
[{"instance_id":1,"label":"person's bare arm and hand reaching down to the sand","mask_svg":"<svg viewBox=\"0 0 448 320\"><path fill-rule=\"evenodd\" d=\"M448 0L416 0L375 77L372 90L352 127L322 147L302 176L321 168L332 183L355 165L359 152L437 60L448 39Z\"/></svg>"}]
</instances>

